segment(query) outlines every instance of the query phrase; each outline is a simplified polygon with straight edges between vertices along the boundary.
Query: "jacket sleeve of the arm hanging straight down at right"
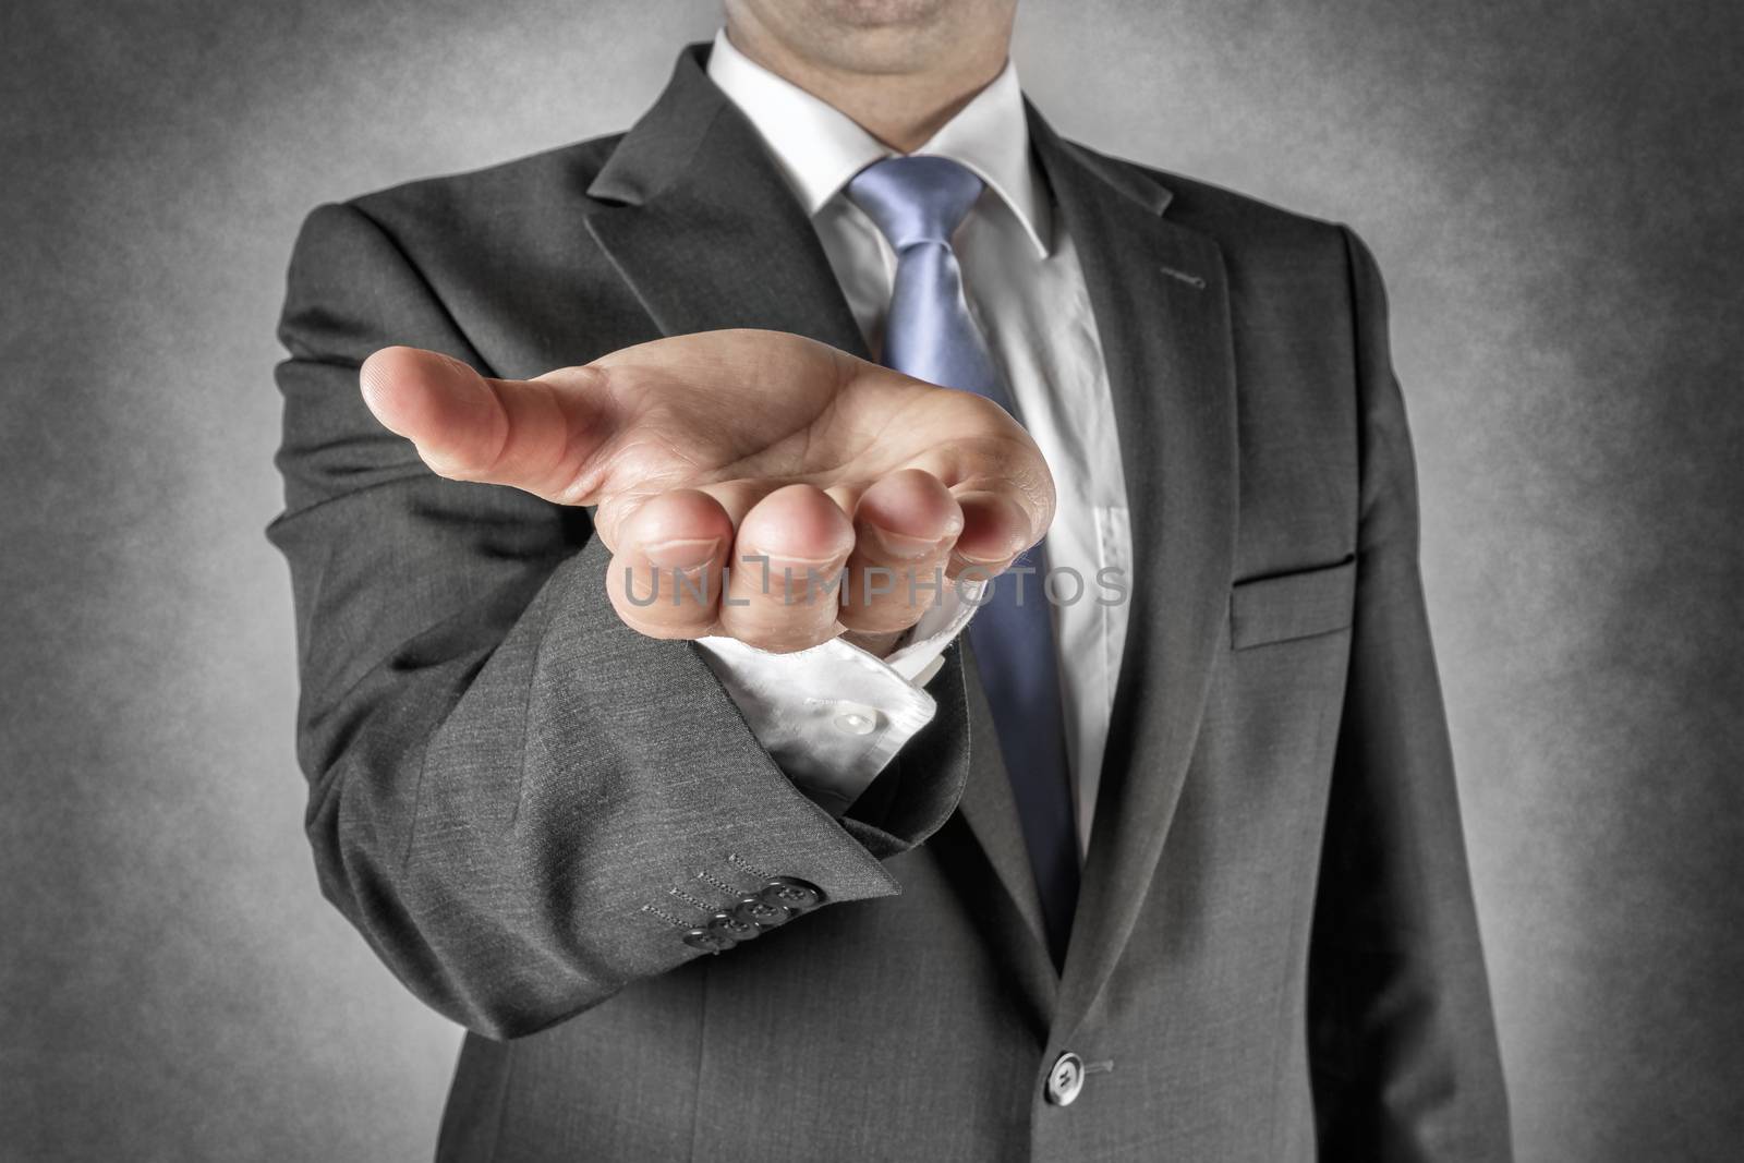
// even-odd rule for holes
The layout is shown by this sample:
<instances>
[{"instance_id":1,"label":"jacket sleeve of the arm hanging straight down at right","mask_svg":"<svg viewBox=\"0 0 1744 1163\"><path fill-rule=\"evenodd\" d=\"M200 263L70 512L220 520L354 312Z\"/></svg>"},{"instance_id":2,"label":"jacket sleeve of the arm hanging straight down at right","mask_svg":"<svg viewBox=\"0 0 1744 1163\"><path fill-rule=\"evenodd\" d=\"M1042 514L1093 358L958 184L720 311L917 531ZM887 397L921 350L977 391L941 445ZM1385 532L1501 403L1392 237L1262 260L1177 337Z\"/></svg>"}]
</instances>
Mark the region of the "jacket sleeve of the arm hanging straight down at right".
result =
<instances>
[{"instance_id":1,"label":"jacket sleeve of the arm hanging straight down at right","mask_svg":"<svg viewBox=\"0 0 1744 1163\"><path fill-rule=\"evenodd\" d=\"M1350 682L1310 954L1320 1158L1509 1160L1489 985L1418 570L1416 471L1374 260L1345 232L1362 490Z\"/></svg>"}]
</instances>

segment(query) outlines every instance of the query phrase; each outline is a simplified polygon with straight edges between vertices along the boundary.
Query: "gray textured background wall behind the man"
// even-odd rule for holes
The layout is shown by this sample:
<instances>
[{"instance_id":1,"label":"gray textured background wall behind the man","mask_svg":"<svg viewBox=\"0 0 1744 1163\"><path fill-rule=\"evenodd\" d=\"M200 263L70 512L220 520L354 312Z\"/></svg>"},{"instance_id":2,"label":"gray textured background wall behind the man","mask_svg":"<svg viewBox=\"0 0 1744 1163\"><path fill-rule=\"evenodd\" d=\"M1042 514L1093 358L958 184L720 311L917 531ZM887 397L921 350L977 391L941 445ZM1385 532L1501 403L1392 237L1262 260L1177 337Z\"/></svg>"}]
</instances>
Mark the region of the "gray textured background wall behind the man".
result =
<instances>
[{"instance_id":1,"label":"gray textured background wall behind the man","mask_svg":"<svg viewBox=\"0 0 1744 1163\"><path fill-rule=\"evenodd\" d=\"M0 1156L417 1160L321 901L272 326L317 201L628 126L712 3L0 9ZM1524 1160L1744 1142L1737 0L1025 0L1102 148L1390 275ZM602 1062L600 1069L610 1069Z\"/></svg>"}]
</instances>

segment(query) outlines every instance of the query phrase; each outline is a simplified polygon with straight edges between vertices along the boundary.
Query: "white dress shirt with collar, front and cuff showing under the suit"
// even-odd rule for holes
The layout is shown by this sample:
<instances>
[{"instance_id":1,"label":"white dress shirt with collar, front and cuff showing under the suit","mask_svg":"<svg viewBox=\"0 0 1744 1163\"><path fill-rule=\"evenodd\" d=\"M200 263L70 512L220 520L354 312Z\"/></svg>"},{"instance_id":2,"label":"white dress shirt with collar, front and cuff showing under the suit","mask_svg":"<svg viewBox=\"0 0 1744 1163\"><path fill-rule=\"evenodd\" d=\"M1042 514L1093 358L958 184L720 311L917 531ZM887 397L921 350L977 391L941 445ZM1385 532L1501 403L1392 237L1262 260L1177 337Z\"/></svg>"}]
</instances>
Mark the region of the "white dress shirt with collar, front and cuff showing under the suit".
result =
<instances>
[{"instance_id":1,"label":"white dress shirt with collar, front and cuff showing under the suit","mask_svg":"<svg viewBox=\"0 0 1744 1163\"><path fill-rule=\"evenodd\" d=\"M896 256L842 190L860 169L895 152L839 110L750 61L724 31L715 37L708 75L769 146L811 214L867 345L881 350ZM1125 596L1132 589L1127 483L1090 295L1078 251L1055 220L1031 155L1024 98L1010 63L916 153L949 157L987 183L952 249L970 312L1059 495L1048 565L1057 582L1052 610L1081 854L1107 748L1127 638ZM1078 584L1066 570L1081 579L1076 602L1071 596ZM1034 593L1038 581L1025 579L1024 593ZM731 638L703 638L698 645L757 741L807 795L841 813L931 722L937 708L926 682L971 616L964 595L947 593L888 659L841 640L799 654L766 654Z\"/></svg>"}]
</instances>

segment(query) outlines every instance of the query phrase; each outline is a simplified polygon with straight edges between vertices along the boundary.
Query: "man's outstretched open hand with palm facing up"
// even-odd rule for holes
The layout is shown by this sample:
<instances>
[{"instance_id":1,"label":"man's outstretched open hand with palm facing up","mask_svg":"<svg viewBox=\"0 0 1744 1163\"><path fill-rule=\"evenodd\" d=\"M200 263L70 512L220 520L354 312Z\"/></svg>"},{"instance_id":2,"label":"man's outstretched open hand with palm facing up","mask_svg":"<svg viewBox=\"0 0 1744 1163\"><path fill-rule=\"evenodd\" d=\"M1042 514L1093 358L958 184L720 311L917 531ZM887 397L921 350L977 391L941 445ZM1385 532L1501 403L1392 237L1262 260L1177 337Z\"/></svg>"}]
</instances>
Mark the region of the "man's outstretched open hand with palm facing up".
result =
<instances>
[{"instance_id":1,"label":"man's outstretched open hand with palm facing up","mask_svg":"<svg viewBox=\"0 0 1744 1163\"><path fill-rule=\"evenodd\" d=\"M998 574L1053 520L1048 467L998 405L780 331L534 380L387 347L361 384L438 474L596 506L612 605L654 638L788 652L849 631L882 654L940 575Z\"/></svg>"}]
</instances>

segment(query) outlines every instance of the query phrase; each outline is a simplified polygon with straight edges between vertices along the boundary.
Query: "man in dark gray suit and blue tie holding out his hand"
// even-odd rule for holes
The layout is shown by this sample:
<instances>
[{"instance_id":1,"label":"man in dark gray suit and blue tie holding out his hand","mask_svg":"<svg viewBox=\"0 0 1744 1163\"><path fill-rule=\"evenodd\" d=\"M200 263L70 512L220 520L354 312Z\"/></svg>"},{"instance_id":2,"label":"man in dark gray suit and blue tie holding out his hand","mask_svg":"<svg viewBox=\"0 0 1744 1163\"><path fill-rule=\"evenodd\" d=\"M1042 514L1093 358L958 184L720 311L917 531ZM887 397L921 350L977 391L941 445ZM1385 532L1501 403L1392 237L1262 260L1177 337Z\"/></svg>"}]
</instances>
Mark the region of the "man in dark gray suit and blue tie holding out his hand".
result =
<instances>
[{"instance_id":1,"label":"man in dark gray suit and blue tie holding out his hand","mask_svg":"<svg viewBox=\"0 0 1744 1163\"><path fill-rule=\"evenodd\" d=\"M1013 7L727 0L305 223L307 828L439 1158L1509 1158L1374 263Z\"/></svg>"}]
</instances>

